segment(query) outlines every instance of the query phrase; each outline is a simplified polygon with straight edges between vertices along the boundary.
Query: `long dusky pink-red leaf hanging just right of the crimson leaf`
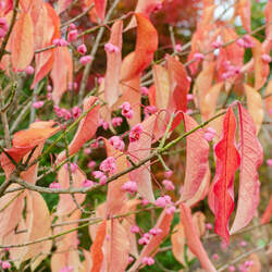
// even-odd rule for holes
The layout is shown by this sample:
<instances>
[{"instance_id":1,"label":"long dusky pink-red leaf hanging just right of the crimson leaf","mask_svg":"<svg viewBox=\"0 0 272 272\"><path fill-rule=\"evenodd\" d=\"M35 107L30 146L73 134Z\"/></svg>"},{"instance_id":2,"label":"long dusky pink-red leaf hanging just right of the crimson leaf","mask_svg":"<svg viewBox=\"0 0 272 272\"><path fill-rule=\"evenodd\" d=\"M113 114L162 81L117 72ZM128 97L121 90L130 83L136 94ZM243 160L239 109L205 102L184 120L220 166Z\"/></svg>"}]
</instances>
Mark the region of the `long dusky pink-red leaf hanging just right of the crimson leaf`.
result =
<instances>
[{"instance_id":1,"label":"long dusky pink-red leaf hanging just right of the crimson leaf","mask_svg":"<svg viewBox=\"0 0 272 272\"><path fill-rule=\"evenodd\" d=\"M258 203L260 182L258 168L262 163L263 151L256 136L256 127L250 114L238 103L240 137L239 198L231 233L238 232L254 218Z\"/></svg>"}]
</instances>

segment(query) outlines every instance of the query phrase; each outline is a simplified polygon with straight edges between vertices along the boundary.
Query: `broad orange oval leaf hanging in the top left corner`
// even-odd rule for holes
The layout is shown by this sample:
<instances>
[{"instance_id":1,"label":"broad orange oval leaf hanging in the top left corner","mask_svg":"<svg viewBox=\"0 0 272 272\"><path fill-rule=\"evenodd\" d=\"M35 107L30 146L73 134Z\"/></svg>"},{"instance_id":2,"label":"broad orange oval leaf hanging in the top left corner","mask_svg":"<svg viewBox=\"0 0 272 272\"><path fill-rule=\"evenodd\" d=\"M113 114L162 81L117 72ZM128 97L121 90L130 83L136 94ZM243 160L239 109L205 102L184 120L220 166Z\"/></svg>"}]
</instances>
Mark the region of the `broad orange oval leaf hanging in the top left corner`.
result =
<instances>
[{"instance_id":1,"label":"broad orange oval leaf hanging in the top left corner","mask_svg":"<svg viewBox=\"0 0 272 272\"><path fill-rule=\"evenodd\" d=\"M34 25L29 13L23 12L11 37L11 62L16 71L25 70L34 57Z\"/></svg>"}]
</instances>

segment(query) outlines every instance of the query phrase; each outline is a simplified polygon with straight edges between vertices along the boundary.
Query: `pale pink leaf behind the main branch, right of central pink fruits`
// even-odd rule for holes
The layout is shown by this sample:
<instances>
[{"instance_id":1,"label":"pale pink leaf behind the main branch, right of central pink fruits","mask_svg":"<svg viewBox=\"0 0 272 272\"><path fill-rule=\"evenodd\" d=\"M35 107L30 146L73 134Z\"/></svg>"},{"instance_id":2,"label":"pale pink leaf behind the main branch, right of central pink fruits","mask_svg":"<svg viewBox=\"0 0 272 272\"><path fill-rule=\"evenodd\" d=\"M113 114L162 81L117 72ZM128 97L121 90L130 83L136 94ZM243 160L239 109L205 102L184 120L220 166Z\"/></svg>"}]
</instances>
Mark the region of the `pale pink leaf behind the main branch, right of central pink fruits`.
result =
<instances>
[{"instance_id":1,"label":"pale pink leaf behind the main branch, right of central pink fruits","mask_svg":"<svg viewBox=\"0 0 272 272\"><path fill-rule=\"evenodd\" d=\"M144 132L141 133L139 139L128 145L127 151L131 156L131 159L135 163L147 158L150 154L156 119L157 115L150 115L148 119L146 119L141 123ZM150 166L148 165L148 163L149 162L132 171L129 173L129 177L132 181L137 183L138 193L140 194L140 196L153 202L154 197L151 184Z\"/></svg>"}]
</instances>

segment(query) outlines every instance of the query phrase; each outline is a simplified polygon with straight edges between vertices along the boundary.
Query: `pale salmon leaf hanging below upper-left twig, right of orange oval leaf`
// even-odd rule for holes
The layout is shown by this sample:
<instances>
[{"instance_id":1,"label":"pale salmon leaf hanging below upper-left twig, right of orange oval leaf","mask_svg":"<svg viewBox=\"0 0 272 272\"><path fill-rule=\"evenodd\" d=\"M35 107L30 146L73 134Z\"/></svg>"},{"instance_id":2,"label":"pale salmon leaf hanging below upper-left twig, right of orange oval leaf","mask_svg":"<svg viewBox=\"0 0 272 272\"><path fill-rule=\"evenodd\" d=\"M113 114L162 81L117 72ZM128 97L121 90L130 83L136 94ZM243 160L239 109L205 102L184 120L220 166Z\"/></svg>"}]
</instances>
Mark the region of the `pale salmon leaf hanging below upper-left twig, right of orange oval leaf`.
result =
<instances>
[{"instance_id":1,"label":"pale salmon leaf hanging below upper-left twig, right of orange oval leaf","mask_svg":"<svg viewBox=\"0 0 272 272\"><path fill-rule=\"evenodd\" d=\"M73 60L66 47L54 48L54 62L51 71L53 82L52 100L59 103L62 95L66 91L69 83L72 82Z\"/></svg>"}]
</instances>

